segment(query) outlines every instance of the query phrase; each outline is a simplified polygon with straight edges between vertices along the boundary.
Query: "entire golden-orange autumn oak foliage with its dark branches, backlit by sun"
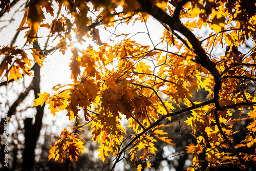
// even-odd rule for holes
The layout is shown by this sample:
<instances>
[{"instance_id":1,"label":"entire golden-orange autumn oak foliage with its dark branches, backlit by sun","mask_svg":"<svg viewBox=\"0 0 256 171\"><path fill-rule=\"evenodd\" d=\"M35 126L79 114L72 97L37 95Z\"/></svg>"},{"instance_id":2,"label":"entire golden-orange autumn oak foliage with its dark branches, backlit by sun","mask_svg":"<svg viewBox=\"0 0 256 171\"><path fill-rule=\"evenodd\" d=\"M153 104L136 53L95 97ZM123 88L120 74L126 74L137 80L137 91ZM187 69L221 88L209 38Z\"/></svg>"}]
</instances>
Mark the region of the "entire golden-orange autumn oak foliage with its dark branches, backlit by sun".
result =
<instances>
[{"instance_id":1,"label":"entire golden-orange autumn oak foliage with its dark branches, backlit by sun","mask_svg":"<svg viewBox=\"0 0 256 171\"><path fill-rule=\"evenodd\" d=\"M80 119L83 113L87 121L84 125L91 126L92 139L99 143L98 156L102 161L112 153L116 159L114 169L117 162L126 159L128 152L131 156L128 160L135 164L146 162L146 166L151 167L148 159L157 151L155 141L160 139L174 145L162 130L168 125L160 125L160 122L191 111L191 117L185 122L193 127L197 144L186 148L188 154L194 154L189 170L206 169L202 163L207 163L207 167L228 163L241 169L248 163L255 164L256 154L240 149L246 147L255 152L256 45L246 53L239 51L247 39L256 38L254 7L242 0L57 0L56 3L57 12L47 0L30 2L18 29L29 29L27 43L33 45L38 28L46 27L59 39L56 49L62 54L73 46L72 32L79 42L91 34L99 46L83 50L73 47L70 62L73 83L58 84L52 94L39 94L34 105L42 106L46 102L53 116L65 110L69 120ZM62 7L71 18L59 15ZM122 7L122 12L117 12L117 7ZM50 24L46 23L46 13L56 15ZM90 13L95 17L88 17ZM129 25L140 21L147 29L150 15L165 27L159 42L153 42L150 33L146 33L152 45L140 45L126 34L117 35L124 38L114 45L102 44L95 28L108 29L118 23ZM193 29L203 26L210 33L196 37ZM218 56L212 52L215 47L226 51ZM6 73L8 81L21 78L21 73L31 75L32 60L24 50L3 47L0 52L6 55L1 73ZM32 54L34 61L42 65L44 56L35 49ZM201 89L208 92L207 99L192 101L191 93ZM172 103L163 100L163 95L170 97ZM182 108L181 103L186 107ZM248 117L241 118L245 110L250 111L246 114ZM133 134L126 135L123 120ZM248 134L243 141L234 144L233 135L239 130L233 125L243 120L248 121ZM61 136L51 146L49 159L62 161L67 153L71 161L76 160L78 153L84 152L82 138L76 138L79 135L67 129ZM142 169L141 164L136 167Z\"/></svg>"}]
</instances>

